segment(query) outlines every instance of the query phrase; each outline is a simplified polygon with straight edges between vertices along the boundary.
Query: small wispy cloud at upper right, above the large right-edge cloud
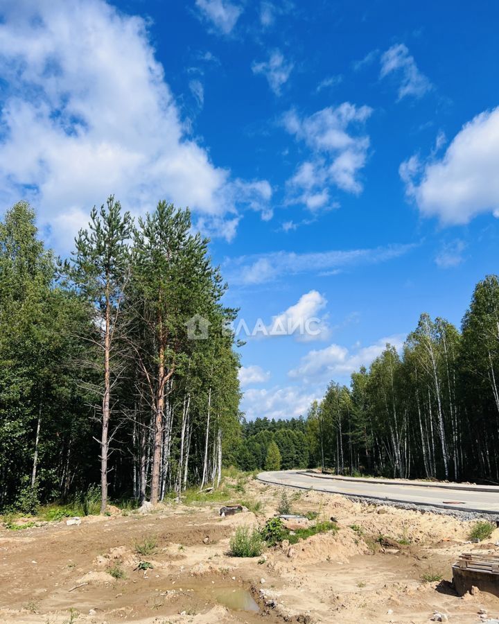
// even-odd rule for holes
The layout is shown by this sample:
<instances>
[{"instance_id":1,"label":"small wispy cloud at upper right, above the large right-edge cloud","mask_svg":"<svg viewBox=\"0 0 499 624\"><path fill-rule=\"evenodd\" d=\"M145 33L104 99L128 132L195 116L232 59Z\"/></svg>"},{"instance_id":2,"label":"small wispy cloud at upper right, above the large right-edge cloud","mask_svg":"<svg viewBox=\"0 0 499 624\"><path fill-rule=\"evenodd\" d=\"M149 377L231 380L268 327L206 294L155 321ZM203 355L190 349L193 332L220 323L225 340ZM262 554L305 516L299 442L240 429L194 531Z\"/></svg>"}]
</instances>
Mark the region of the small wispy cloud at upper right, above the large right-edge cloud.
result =
<instances>
[{"instance_id":1,"label":"small wispy cloud at upper right, above the large right-edge cloud","mask_svg":"<svg viewBox=\"0 0 499 624\"><path fill-rule=\"evenodd\" d=\"M432 89L430 80L419 71L404 44L395 44L381 55L380 77L385 78L392 73L400 78L399 100L405 96L421 98Z\"/></svg>"}]
</instances>

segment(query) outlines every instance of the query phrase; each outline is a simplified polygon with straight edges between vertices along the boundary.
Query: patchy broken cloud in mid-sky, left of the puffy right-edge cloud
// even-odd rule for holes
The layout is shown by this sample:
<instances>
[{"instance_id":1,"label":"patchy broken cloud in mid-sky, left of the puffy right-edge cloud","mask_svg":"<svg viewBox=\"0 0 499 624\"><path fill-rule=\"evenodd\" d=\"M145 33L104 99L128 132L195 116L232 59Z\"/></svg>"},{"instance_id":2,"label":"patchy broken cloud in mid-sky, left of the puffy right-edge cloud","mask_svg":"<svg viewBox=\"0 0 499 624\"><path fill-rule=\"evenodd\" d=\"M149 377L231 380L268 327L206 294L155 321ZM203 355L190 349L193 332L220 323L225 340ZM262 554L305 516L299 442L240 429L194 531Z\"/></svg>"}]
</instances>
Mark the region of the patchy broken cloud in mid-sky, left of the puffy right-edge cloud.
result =
<instances>
[{"instance_id":1,"label":"patchy broken cloud in mid-sky, left of the puffy right-edge cloud","mask_svg":"<svg viewBox=\"0 0 499 624\"><path fill-rule=\"evenodd\" d=\"M362 191L358 174L367 159L369 137L355 135L352 130L364 125L371 113L369 106L349 102L303 118L295 110L286 113L284 127L303 141L313 156L288 180L288 202L302 202L311 210L338 207L337 202L329 201L329 187L354 194Z\"/></svg>"}]
</instances>

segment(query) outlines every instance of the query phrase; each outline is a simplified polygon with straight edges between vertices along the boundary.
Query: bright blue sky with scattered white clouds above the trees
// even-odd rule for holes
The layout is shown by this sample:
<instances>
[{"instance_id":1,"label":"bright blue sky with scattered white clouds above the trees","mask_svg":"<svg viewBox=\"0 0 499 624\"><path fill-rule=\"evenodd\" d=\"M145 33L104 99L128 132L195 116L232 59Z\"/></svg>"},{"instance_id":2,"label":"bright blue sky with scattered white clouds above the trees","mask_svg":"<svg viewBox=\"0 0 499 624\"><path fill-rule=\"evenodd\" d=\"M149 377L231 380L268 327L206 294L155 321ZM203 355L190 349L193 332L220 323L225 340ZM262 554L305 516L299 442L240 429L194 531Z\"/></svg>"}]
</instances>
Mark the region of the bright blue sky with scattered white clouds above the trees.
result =
<instances>
[{"instance_id":1,"label":"bright blue sky with scattered white clouds above the trees","mask_svg":"<svg viewBox=\"0 0 499 624\"><path fill-rule=\"evenodd\" d=\"M459 324L496 272L499 5L12 1L0 200L71 249L115 193L189 205L251 329L252 418L306 412L422 311ZM496 216L494 216L494 213Z\"/></svg>"}]
</instances>

